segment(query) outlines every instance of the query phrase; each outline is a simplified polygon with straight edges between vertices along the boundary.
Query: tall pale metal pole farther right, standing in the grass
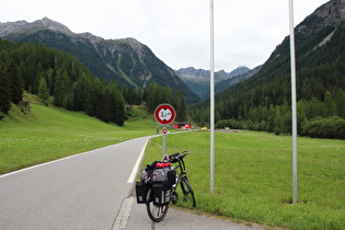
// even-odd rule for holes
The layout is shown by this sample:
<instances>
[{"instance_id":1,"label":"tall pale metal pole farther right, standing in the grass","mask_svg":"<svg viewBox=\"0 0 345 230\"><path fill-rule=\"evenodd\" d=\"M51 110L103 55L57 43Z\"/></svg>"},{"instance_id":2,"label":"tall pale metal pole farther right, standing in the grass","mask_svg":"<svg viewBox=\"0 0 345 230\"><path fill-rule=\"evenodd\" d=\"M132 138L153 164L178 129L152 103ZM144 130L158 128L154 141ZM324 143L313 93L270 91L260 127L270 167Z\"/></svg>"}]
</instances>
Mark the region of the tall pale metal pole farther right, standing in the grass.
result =
<instances>
[{"instance_id":1,"label":"tall pale metal pole farther right, standing in the grass","mask_svg":"<svg viewBox=\"0 0 345 230\"><path fill-rule=\"evenodd\" d=\"M290 24L290 59L291 59L291 107L292 107L292 204L298 199L297 177L297 106L296 106L296 60L295 60L295 32L294 32L294 4L289 0L289 24Z\"/></svg>"}]
</instances>

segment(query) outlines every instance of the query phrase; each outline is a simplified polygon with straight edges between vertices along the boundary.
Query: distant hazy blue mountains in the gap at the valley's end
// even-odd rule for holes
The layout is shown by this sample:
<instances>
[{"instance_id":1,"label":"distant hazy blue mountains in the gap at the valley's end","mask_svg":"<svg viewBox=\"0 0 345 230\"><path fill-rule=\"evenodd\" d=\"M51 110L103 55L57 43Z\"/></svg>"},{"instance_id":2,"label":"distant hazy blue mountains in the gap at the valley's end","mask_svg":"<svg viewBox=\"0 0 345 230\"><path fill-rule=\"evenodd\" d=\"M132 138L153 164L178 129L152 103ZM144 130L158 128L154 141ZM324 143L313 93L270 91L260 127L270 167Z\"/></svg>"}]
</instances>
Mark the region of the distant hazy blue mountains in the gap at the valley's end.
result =
<instances>
[{"instance_id":1,"label":"distant hazy blue mountains in the gap at the valley's end","mask_svg":"<svg viewBox=\"0 0 345 230\"><path fill-rule=\"evenodd\" d=\"M215 72L216 93L219 93L227 88L250 78L258 71L258 68L260 67L256 67L251 70L248 67L238 67L231 72L226 72L225 70ZM182 81L202 100L209 97L209 70L188 67L175 70L175 72L182 79Z\"/></svg>"}]
</instances>

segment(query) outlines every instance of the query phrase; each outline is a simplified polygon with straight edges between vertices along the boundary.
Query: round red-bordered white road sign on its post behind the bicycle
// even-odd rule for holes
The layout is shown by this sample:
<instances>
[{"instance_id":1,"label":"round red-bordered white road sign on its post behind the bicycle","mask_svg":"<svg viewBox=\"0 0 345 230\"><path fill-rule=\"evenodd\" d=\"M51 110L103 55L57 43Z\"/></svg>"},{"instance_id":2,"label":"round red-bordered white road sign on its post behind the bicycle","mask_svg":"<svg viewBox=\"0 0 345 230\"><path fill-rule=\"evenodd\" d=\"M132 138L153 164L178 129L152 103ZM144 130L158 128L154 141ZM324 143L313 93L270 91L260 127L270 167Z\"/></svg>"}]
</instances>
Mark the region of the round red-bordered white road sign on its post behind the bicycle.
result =
<instances>
[{"instance_id":1,"label":"round red-bordered white road sign on its post behind the bicycle","mask_svg":"<svg viewBox=\"0 0 345 230\"><path fill-rule=\"evenodd\" d=\"M176 117L176 112L174 110L173 106L171 106L170 104L161 104L159 106L157 106L157 108L154 110L154 119L163 125L163 157L165 156L166 152L166 134L168 134L168 129L166 129L166 125L169 125L170 123L174 122Z\"/></svg>"}]
</instances>

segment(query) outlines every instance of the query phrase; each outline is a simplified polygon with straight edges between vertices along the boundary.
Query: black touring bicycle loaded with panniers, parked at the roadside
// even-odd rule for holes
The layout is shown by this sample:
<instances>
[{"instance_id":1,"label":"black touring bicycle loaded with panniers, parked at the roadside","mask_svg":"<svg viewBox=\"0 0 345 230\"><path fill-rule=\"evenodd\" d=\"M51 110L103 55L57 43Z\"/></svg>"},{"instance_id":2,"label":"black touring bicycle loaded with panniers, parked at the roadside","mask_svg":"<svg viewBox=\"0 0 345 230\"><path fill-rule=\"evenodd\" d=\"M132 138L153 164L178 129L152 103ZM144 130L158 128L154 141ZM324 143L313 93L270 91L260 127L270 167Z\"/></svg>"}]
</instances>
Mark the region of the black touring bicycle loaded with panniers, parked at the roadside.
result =
<instances>
[{"instance_id":1,"label":"black touring bicycle loaded with panniers, parked at the roadside","mask_svg":"<svg viewBox=\"0 0 345 230\"><path fill-rule=\"evenodd\" d=\"M186 168L184 158L189 154L188 151L181 153L174 153L165 156L161 161L164 163L179 163L175 168L164 168L166 180L159 181L159 176L154 173L159 173L159 170L154 170L157 162L148 165L147 169L142 170L141 182L137 182L137 203L146 204L147 212L150 219L154 222L159 222L164 219L168 214L170 202L176 204L179 202L177 187L181 186L183 194L183 200L187 204L192 204L195 207L195 196L192 185L189 184L186 176ZM166 164L165 164L166 165ZM160 169L163 171L163 169ZM176 171L179 174L176 174ZM147 174L146 174L147 173ZM164 172L163 172L164 173ZM154 182L153 182L154 181ZM139 186L138 186L139 185Z\"/></svg>"}]
</instances>

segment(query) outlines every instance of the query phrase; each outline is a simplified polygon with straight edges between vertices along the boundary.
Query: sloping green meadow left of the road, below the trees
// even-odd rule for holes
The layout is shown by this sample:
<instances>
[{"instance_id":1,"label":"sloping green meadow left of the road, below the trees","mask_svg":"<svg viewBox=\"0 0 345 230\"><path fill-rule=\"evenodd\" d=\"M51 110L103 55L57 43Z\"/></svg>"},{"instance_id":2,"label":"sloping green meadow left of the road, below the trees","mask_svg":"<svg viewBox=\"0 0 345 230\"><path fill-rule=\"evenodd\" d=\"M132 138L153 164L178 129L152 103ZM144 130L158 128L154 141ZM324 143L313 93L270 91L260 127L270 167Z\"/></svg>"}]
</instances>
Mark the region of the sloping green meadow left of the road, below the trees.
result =
<instances>
[{"instance_id":1,"label":"sloping green meadow left of the road, below the trees","mask_svg":"<svg viewBox=\"0 0 345 230\"><path fill-rule=\"evenodd\" d=\"M0 120L0 174L156 134L156 123L148 119L119 127L81 112L35 103L24 113L12 106L10 116ZM136 113L140 115L140 110Z\"/></svg>"}]
</instances>

